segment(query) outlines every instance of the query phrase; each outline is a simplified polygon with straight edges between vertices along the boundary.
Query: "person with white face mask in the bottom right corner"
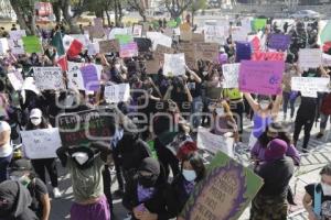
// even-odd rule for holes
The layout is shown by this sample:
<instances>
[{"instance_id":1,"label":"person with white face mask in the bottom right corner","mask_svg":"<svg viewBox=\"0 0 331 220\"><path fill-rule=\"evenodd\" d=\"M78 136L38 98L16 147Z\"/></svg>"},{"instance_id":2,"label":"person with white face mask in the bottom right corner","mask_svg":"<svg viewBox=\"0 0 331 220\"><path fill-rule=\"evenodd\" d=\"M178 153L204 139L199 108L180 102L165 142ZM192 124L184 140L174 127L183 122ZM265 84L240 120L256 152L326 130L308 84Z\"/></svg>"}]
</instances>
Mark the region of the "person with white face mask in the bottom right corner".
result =
<instances>
[{"instance_id":1,"label":"person with white face mask in the bottom right corner","mask_svg":"<svg viewBox=\"0 0 331 220\"><path fill-rule=\"evenodd\" d=\"M308 211L309 220L327 220L331 218L331 164L320 172L320 183L305 187L303 207Z\"/></svg>"}]
</instances>

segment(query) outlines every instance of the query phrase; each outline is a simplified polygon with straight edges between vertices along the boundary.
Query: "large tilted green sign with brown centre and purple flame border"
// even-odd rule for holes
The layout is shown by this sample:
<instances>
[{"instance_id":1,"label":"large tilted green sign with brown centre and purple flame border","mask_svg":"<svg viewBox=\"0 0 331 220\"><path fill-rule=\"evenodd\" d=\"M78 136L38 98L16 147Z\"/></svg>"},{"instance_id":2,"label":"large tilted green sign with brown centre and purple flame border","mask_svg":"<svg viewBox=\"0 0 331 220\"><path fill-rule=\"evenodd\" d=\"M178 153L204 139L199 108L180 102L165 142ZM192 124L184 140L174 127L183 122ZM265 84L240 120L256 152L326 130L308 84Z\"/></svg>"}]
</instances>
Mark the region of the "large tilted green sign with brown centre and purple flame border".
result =
<instances>
[{"instance_id":1,"label":"large tilted green sign with brown centre and purple flame border","mask_svg":"<svg viewBox=\"0 0 331 220\"><path fill-rule=\"evenodd\" d=\"M253 170L220 152L180 217L185 220L239 219L261 186L263 179Z\"/></svg>"}]
</instances>

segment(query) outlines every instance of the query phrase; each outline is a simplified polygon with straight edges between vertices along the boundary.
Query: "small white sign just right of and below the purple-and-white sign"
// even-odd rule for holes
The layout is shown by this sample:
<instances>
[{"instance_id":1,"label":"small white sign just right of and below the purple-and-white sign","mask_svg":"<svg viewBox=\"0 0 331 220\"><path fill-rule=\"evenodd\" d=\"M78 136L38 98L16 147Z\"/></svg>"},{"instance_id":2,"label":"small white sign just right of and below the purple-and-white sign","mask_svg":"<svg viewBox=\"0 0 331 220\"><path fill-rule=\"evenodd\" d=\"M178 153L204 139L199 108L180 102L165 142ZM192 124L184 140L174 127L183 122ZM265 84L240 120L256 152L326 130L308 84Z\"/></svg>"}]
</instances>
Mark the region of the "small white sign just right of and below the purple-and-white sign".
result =
<instances>
[{"instance_id":1,"label":"small white sign just right of and below the purple-and-white sign","mask_svg":"<svg viewBox=\"0 0 331 220\"><path fill-rule=\"evenodd\" d=\"M105 87L105 99L108 103L126 102L130 98L130 85L117 84Z\"/></svg>"}]
</instances>

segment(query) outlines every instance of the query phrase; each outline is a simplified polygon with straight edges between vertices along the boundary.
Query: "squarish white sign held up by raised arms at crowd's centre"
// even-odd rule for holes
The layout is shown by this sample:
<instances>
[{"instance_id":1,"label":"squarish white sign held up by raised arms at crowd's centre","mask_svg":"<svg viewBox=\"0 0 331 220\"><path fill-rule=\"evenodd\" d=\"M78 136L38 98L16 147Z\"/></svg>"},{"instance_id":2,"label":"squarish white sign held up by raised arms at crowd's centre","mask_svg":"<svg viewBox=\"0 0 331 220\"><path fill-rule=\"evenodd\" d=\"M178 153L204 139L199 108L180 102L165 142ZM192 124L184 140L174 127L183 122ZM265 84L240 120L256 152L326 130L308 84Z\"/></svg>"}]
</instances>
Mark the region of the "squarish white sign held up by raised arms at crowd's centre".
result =
<instances>
[{"instance_id":1,"label":"squarish white sign held up by raised arms at crowd's centre","mask_svg":"<svg viewBox=\"0 0 331 220\"><path fill-rule=\"evenodd\" d=\"M185 74L184 54L164 54L163 75L178 76Z\"/></svg>"}]
</instances>

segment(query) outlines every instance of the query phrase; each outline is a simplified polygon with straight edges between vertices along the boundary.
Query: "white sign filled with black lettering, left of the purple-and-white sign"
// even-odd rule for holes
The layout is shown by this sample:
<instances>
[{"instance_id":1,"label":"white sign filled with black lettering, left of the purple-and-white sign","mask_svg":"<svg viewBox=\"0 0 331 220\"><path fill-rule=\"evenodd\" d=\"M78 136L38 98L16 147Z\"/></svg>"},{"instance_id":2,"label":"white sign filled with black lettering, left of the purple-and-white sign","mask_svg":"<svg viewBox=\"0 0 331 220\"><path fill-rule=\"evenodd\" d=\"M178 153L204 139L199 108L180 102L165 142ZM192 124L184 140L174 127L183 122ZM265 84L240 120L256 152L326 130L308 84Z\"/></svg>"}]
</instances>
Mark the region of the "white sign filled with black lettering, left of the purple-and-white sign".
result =
<instances>
[{"instance_id":1,"label":"white sign filled with black lettering, left of the purple-and-white sign","mask_svg":"<svg viewBox=\"0 0 331 220\"><path fill-rule=\"evenodd\" d=\"M33 67L33 78L41 91L65 89L60 67Z\"/></svg>"}]
</instances>

